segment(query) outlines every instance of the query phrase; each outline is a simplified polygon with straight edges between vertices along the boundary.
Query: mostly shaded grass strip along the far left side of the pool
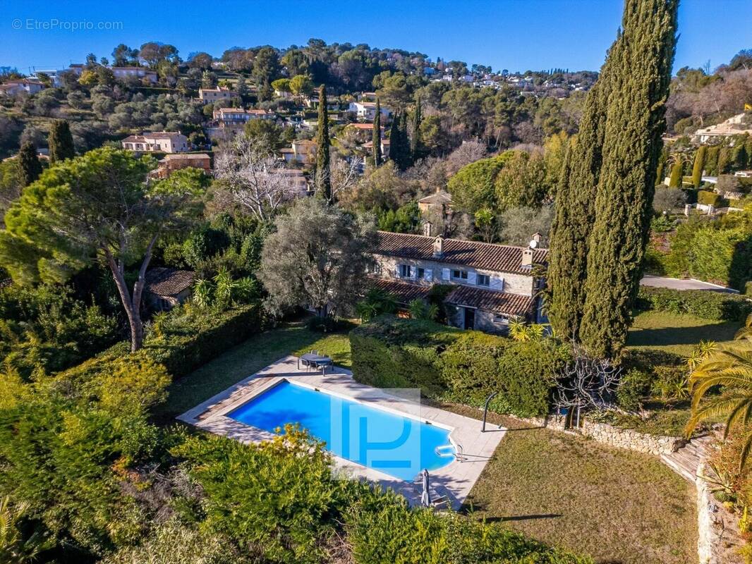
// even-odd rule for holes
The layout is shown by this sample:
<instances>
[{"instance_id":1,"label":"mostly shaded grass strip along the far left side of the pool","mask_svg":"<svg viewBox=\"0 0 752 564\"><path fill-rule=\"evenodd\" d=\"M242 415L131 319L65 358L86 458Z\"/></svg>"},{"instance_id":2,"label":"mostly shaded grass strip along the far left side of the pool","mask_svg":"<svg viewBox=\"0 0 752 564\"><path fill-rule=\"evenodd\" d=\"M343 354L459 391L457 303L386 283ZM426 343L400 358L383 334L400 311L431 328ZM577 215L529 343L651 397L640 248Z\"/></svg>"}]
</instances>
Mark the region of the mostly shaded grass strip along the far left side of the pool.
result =
<instances>
[{"instance_id":1,"label":"mostly shaded grass strip along the far left side of the pool","mask_svg":"<svg viewBox=\"0 0 752 564\"><path fill-rule=\"evenodd\" d=\"M289 354L298 356L318 350L331 356L335 365L350 368L347 333L352 328L348 325L340 332L320 333L298 321L254 335L171 384L167 402L156 408L155 415L166 423Z\"/></svg>"}]
</instances>

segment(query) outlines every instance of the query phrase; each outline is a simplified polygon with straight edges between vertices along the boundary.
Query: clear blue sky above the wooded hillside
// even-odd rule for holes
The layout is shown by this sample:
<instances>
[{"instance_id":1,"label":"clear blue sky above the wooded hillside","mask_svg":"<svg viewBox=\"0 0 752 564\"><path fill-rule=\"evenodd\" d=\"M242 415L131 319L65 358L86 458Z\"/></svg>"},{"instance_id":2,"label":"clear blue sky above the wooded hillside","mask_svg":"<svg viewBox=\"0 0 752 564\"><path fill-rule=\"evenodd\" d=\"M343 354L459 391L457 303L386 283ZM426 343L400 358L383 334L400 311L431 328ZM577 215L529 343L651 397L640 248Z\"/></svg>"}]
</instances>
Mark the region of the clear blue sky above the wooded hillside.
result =
<instances>
[{"instance_id":1,"label":"clear blue sky above the wooded hillside","mask_svg":"<svg viewBox=\"0 0 752 564\"><path fill-rule=\"evenodd\" d=\"M220 56L228 47L287 47L315 37L495 70L597 70L621 8L621 0L0 0L0 66L63 68L89 52L110 57L121 42L162 41L186 58L199 50ZM682 0L675 70L708 59L715 67L752 48L750 23L750 0Z\"/></svg>"}]
</instances>

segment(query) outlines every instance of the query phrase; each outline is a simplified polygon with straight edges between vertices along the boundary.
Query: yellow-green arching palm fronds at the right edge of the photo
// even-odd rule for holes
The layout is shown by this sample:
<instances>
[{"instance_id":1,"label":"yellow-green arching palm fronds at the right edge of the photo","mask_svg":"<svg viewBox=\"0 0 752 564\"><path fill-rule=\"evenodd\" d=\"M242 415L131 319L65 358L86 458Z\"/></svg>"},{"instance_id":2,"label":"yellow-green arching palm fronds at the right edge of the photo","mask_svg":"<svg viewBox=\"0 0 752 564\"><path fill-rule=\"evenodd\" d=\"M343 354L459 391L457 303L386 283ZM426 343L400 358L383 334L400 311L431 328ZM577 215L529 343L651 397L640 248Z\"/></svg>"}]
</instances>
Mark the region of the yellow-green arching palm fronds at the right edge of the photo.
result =
<instances>
[{"instance_id":1,"label":"yellow-green arching palm fronds at the right edge of the photo","mask_svg":"<svg viewBox=\"0 0 752 564\"><path fill-rule=\"evenodd\" d=\"M726 417L723 438L735 423L746 425L752 421L752 343L724 347L699 364L690 375L692 415L687 423L689 436L702 420ZM720 394L705 398L715 387ZM702 400L705 399L703 402ZM744 466L752 448L752 430L744 432L739 468Z\"/></svg>"}]
</instances>

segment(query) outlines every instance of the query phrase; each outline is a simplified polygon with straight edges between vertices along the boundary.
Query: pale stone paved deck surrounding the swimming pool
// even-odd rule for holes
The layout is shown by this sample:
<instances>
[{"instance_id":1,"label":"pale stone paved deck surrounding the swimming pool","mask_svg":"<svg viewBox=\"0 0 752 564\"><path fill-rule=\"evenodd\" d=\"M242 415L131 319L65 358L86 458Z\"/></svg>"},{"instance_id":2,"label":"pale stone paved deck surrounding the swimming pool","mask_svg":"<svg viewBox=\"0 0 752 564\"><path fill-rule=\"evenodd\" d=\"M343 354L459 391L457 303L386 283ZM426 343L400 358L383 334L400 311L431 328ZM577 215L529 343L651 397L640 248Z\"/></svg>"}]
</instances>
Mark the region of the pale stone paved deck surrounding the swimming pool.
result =
<instances>
[{"instance_id":1,"label":"pale stone paved deck surrounding the swimming pool","mask_svg":"<svg viewBox=\"0 0 752 564\"><path fill-rule=\"evenodd\" d=\"M337 396L355 399L388 411L409 414L439 426L450 427L452 429L450 438L454 444L462 446L464 459L453 460L444 468L431 472L431 490L433 498L446 496L454 509L459 509L465 501L473 485L481 476L486 462L493 456L499 441L506 434L506 429L494 425L487 425L487 432L481 432L481 422L478 420L421 405L384 390L359 384L353 380L352 373L344 368L335 366L324 376L320 372L299 370L295 356L286 356L277 360L274 364L196 405L177 419L199 429L235 438L244 443L268 440L274 436L270 432L239 423L226 417L226 414L282 380L316 387ZM391 488L401 493L412 505L420 504L420 484L393 478L383 472L365 468L338 456L334 456L334 459L339 475L347 476L347 478L365 478L380 484L385 489Z\"/></svg>"}]
</instances>

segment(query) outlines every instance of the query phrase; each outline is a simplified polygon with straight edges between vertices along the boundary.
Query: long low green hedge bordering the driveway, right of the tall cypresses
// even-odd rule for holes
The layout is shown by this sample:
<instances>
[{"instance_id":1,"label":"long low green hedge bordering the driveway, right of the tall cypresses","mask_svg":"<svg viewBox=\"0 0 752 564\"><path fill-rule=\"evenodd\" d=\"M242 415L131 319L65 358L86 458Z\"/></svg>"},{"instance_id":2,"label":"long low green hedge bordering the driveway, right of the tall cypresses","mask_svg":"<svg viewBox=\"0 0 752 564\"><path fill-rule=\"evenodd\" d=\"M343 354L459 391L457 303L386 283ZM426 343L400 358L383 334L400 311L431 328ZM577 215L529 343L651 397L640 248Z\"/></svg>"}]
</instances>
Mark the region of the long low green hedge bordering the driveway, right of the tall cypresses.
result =
<instances>
[{"instance_id":1,"label":"long low green hedge bordering the driveway, right of the tall cypresses","mask_svg":"<svg viewBox=\"0 0 752 564\"><path fill-rule=\"evenodd\" d=\"M752 312L752 301L726 292L640 287L637 308L691 314L707 320L741 321Z\"/></svg>"}]
</instances>

